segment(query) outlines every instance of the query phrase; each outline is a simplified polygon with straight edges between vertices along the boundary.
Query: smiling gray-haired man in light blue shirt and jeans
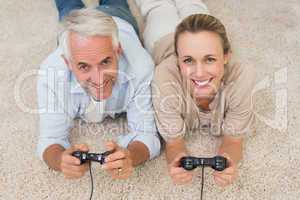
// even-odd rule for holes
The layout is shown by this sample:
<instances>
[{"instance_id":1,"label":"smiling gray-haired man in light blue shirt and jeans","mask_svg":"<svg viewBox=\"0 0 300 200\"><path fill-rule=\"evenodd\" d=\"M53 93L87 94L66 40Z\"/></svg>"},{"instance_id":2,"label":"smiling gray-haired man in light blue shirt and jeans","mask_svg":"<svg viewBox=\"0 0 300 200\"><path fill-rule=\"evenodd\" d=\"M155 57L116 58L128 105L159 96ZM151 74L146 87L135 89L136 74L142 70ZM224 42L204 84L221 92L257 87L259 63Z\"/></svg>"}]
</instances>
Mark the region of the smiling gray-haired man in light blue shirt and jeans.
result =
<instances>
[{"instance_id":1,"label":"smiling gray-haired man in light blue shirt and jeans","mask_svg":"<svg viewBox=\"0 0 300 200\"><path fill-rule=\"evenodd\" d=\"M67 178L79 178L88 164L79 165L70 145L73 119L101 122L127 112L126 136L107 142L114 153L103 168L115 179L160 152L151 103L154 64L136 34L136 22L124 0L101 1L96 9L81 0L56 0L64 32L58 48L42 63L38 80L40 136L38 154ZM75 9L75 10L74 10Z\"/></svg>"}]
</instances>

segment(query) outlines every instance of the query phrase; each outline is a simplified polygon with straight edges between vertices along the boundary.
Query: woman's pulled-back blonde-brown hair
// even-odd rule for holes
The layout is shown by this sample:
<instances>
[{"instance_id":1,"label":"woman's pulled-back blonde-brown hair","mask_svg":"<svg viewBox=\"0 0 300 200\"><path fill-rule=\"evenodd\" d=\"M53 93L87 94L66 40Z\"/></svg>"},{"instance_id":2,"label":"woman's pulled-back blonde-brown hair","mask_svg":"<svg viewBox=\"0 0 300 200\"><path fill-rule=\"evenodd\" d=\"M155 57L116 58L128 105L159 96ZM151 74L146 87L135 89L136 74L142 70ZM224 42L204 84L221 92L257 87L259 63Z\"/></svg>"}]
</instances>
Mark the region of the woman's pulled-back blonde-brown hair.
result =
<instances>
[{"instance_id":1,"label":"woman's pulled-back blonde-brown hair","mask_svg":"<svg viewBox=\"0 0 300 200\"><path fill-rule=\"evenodd\" d=\"M178 38L185 32L198 33L201 31L210 31L218 34L222 40L224 54L231 51L226 29L220 20L207 14L194 14L186 17L177 25L175 31L175 53L177 52Z\"/></svg>"}]
</instances>

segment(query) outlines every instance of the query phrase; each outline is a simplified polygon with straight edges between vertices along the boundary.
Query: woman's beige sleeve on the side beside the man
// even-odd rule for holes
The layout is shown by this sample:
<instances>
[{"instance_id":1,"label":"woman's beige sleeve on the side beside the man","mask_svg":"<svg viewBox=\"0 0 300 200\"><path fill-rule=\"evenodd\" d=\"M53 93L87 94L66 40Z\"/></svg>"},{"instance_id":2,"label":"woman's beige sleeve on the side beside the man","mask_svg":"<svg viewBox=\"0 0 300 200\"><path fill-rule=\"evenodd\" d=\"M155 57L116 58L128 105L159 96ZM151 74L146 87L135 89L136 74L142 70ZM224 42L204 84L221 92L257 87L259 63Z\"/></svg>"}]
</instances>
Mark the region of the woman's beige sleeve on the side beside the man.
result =
<instances>
[{"instance_id":1,"label":"woman's beige sleeve on the side beside the man","mask_svg":"<svg viewBox=\"0 0 300 200\"><path fill-rule=\"evenodd\" d=\"M176 62L165 62L156 68L152 82L152 100L158 131L164 140L183 137L187 131L183 117L183 89L169 65ZM173 67L174 67L173 66Z\"/></svg>"}]
</instances>

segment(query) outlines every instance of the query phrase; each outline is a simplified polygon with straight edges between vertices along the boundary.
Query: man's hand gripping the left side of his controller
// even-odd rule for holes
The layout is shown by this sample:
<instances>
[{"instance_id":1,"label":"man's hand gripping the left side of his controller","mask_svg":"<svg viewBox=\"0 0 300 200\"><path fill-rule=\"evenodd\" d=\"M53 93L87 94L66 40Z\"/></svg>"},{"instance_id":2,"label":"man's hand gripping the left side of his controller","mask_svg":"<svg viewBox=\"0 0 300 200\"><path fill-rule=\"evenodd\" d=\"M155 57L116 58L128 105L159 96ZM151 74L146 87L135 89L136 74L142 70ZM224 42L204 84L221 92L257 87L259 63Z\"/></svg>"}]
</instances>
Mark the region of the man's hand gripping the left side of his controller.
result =
<instances>
[{"instance_id":1,"label":"man's hand gripping the left side of his controller","mask_svg":"<svg viewBox=\"0 0 300 200\"><path fill-rule=\"evenodd\" d=\"M89 169L89 163L80 165L80 160L72 156L74 151L88 152L89 148L86 144L77 144L66 149L61 156L60 170L68 179L75 179L82 177Z\"/></svg>"}]
</instances>

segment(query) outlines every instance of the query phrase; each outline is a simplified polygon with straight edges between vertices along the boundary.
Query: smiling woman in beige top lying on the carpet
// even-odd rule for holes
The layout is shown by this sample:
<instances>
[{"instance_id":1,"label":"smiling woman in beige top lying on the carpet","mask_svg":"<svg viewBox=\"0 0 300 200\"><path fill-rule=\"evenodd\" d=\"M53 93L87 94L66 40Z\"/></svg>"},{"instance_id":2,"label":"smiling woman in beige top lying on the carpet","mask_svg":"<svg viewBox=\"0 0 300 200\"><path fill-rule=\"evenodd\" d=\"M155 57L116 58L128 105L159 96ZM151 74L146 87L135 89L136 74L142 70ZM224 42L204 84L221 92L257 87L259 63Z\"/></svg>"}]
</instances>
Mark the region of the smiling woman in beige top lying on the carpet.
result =
<instances>
[{"instance_id":1,"label":"smiling woman in beige top lying on the carpet","mask_svg":"<svg viewBox=\"0 0 300 200\"><path fill-rule=\"evenodd\" d=\"M153 80L153 105L158 130L166 141L169 174L174 183L192 180L193 172L179 167L179 161L189 155L184 136L196 131L221 137L216 154L225 156L229 167L213 176L218 185L227 186L237 177L243 137L254 121L254 70L229 62L225 27L213 16L185 18L174 38L175 50L167 36L154 51L159 65Z\"/></svg>"}]
</instances>

